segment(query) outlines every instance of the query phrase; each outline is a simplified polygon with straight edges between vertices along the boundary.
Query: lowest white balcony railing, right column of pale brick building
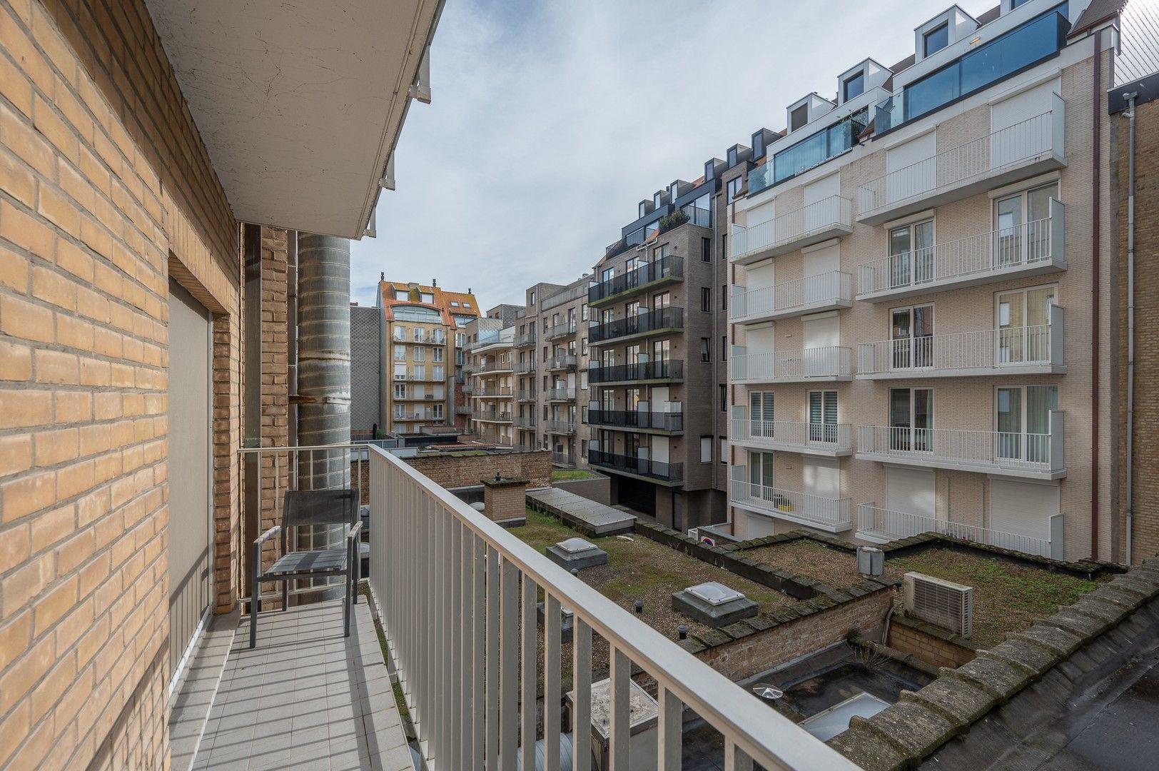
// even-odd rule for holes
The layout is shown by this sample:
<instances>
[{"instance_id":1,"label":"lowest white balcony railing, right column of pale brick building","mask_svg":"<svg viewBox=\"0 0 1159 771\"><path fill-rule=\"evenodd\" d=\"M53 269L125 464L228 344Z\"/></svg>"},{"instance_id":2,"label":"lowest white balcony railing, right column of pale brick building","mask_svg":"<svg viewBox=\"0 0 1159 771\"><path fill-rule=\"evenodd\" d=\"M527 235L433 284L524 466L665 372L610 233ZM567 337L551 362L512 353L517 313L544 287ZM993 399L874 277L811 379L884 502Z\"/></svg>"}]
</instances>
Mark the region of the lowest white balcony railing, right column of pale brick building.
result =
<instances>
[{"instance_id":1,"label":"lowest white balcony railing, right column of pale brick building","mask_svg":"<svg viewBox=\"0 0 1159 771\"><path fill-rule=\"evenodd\" d=\"M1042 523L1043 534L1028 536L961 522L948 522L923 514L892 511L873 503L858 503L857 537L884 544L899 538L912 538L934 532L977 544L989 544L999 548L1063 560L1065 559L1064 523L1064 515L1052 515L1049 522Z\"/></svg>"}]
</instances>

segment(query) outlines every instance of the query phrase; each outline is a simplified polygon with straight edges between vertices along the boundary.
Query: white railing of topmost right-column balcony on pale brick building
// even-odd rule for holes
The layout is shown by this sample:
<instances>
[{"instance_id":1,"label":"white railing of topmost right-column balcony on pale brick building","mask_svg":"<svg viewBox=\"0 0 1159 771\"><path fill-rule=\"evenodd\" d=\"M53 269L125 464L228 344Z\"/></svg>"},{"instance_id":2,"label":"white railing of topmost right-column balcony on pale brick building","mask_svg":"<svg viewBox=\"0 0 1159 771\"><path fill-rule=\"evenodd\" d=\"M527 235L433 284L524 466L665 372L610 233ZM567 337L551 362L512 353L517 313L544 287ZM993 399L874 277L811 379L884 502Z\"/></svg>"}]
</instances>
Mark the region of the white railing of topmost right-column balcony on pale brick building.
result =
<instances>
[{"instance_id":1,"label":"white railing of topmost right-column balcony on pale brick building","mask_svg":"<svg viewBox=\"0 0 1159 771\"><path fill-rule=\"evenodd\" d=\"M1065 103L1056 94L1052 110L862 184L858 190L858 217L873 217L891 206L984 180L1051 152L1062 154L1064 108Z\"/></svg>"}]
</instances>

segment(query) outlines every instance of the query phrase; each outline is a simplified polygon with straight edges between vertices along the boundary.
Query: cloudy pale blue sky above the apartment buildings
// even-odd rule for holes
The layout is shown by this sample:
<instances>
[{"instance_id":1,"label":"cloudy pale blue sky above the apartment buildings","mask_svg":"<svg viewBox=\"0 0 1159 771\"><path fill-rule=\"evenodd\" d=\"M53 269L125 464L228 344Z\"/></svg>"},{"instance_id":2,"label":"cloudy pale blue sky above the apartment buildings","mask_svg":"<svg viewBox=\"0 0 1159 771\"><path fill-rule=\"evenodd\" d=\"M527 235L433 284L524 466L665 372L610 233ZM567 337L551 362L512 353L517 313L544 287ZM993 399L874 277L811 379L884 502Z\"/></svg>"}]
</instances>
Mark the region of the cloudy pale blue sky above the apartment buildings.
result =
<instances>
[{"instance_id":1,"label":"cloudy pale blue sky above the apartment buildings","mask_svg":"<svg viewBox=\"0 0 1159 771\"><path fill-rule=\"evenodd\" d=\"M912 53L948 0L447 0L431 104L413 103L378 238L353 245L351 293L379 272L472 289L482 307L590 271L636 203L694 180L866 57ZM963 0L977 14L997 0Z\"/></svg>"}]
</instances>

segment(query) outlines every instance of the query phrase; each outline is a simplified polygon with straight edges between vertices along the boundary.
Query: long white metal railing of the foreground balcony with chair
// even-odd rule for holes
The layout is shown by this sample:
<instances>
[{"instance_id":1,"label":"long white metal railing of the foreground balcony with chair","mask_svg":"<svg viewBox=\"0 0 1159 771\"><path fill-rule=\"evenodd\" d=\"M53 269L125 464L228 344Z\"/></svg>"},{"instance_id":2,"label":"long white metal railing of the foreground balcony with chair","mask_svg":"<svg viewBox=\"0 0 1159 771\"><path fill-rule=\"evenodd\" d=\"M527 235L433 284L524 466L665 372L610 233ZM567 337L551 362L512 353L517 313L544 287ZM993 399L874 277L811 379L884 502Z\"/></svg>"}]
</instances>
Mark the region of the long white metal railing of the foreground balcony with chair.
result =
<instances>
[{"instance_id":1,"label":"long white metal railing of the foreground balcony with chair","mask_svg":"<svg viewBox=\"0 0 1159 771\"><path fill-rule=\"evenodd\" d=\"M728 769L857 768L407 464L371 452L370 584L428 768L515 771L520 736L534 757L542 679L542 768L559 771L561 608L573 612L574 771L591 769L593 634L608 645L611 768L629 768L633 665L657 684L658 768L680 766L685 706L720 732Z\"/></svg>"}]
</instances>

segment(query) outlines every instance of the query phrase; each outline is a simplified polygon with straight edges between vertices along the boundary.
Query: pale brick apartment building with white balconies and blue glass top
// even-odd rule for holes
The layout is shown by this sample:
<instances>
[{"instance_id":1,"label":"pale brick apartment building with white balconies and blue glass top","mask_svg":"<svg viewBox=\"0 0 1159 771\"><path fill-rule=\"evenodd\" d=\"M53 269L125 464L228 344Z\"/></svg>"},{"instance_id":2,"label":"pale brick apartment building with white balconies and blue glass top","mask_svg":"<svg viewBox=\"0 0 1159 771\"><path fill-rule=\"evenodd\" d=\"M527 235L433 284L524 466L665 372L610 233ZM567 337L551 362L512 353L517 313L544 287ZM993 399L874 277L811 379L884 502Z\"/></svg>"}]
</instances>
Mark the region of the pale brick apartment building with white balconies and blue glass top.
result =
<instances>
[{"instance_id":1,"label":"pale brick apartment building with white balconies and blue glass top","mask_svg":"<svg viewBox=\"0 0 1159 771\"><path fill-rule=\"evenodd\" d=\"M1116 9L954 6L786 108L729 212L732 534L1110 555Z\"/></svg>"}]
</instances>

